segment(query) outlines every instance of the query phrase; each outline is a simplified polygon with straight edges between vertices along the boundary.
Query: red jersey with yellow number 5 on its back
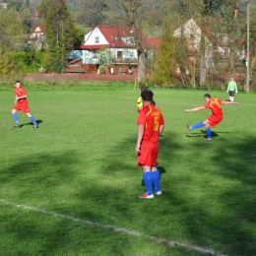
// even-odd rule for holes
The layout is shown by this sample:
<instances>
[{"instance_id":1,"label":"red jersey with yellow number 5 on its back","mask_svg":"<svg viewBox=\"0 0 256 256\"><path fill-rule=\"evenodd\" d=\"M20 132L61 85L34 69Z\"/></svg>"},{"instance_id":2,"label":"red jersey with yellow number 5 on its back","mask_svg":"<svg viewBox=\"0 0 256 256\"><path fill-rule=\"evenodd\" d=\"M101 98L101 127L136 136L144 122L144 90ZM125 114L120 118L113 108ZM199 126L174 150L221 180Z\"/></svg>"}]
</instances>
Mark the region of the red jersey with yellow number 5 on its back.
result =
<instances>
[{"instance_id":1,"label":"red jersey with yellow number 5 on its back","mask_svg":"<svg viewBox=\"0 0 256 256\"><path fill-rule=\"evenodd\" d=\"M146 105L141 109L137 124L145 127L143 140L157 143L160 137L160 125L164 124L163 117L159 108L154 104Z\"/></svg>"}]
</instances>

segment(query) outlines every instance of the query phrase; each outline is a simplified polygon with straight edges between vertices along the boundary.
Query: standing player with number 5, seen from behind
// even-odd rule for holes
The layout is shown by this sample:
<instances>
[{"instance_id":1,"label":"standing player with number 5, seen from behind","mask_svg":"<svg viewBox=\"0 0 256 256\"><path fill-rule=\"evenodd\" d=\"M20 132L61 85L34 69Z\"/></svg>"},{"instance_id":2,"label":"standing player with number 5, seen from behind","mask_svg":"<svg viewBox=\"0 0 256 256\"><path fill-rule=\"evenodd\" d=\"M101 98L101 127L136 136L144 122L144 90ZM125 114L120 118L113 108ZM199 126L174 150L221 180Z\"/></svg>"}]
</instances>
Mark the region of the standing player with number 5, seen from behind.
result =
<instances>
[{"instance_id":1,"label":"standing player with number 5, seen from behind","mask_svg":"<svg viewBox=\"0 0 256 256\"><path fill-rule=\"evenodd\" d=\"M160 171L157 168L159 155L159 137L164 128L164 121L160 109L153 103L153 93L143 91L144 107L138 116L137 144L135 152L138 154L138 166L144 171L143 179L146 193L140 198L154 198L153 184L157 195L161 195Z\"/></svg>"}]
</instances>

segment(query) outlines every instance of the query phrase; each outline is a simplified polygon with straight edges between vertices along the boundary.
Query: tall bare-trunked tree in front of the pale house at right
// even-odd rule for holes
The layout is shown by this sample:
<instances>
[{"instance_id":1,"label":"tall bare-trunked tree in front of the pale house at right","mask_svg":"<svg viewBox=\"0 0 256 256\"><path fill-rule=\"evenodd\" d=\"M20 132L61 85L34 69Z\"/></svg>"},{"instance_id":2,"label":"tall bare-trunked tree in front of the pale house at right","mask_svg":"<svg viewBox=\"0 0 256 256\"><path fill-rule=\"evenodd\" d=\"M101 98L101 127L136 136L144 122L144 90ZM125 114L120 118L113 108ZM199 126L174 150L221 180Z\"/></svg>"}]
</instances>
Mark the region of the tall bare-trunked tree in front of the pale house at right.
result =
<instances>
[{"instance_id":1,"label":"tall bare-trunked tree in front of the pale house at right","mask_svg":"<svg viewBox=\"0 0 256 256\"><path fill-rule=\"evenodd\" d=\"M212 54L216 54L220 42L218 36L227 34L228 41L226 45L229 48L229 66L230 72L234 71L234 58L236 54L236 42L240 36L239 22L236 19L237 13L242 10L237 0L178 0L180 12L189 19L193 17L201 28L200 39L200 85L204 86L207 82L207 71L210 59L207 59L207 53L212 47ZM218 25L218 26L217 26ZM214 45L215 44L215 45ZM227 47L226 46L226 47ZM212 56L212 59L216 59Z\"/></svg>"}]
</instances>

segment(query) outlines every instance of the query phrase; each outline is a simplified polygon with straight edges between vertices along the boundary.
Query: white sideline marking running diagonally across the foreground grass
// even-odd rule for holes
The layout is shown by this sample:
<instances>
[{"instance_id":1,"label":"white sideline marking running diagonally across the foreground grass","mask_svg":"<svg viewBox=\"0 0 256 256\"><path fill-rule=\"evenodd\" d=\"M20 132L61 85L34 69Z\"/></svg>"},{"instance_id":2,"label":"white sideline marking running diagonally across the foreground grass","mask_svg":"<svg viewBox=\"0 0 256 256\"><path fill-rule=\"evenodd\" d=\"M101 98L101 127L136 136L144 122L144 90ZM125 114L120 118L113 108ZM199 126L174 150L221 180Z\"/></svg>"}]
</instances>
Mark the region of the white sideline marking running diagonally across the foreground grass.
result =
<instances>
[{"instance_id":1,"label":"white sideline marking running diagonally across the foreground grass","mask_svg":"<svg viewBox=\"0 0 256 256\"><path fill-rule=\"evenodd\" d=\"M105 225L105 224L99 224L99 223L92 223L90 221L84 221L84 220L81 220L81 219L73 218L71 216L57 214L57 213L51 212L51 211L39 210L39 209L36 209L34 207L31 207L31 206L14 204L14 203L9 202L9 201L7 201L5 199L0 199L0 202L2 202L3 204L6 204L6 205L12 206L12 207L23 209L23 210L30 210L30 211L41 213L41 214L46 214L46 215L50 215L50 216L54 216L54 217L58 217L58 218L67 219L67 220L70 220L71 222L78 222L78 223L81 223L81 224L89 224L89 225L99 226L99 227L102 227L102 228L113 229L116 232L117 231L122 231L122 232L125 232L125 233L128 233L128 234L132 234L132 235L144 236L144 237L147 237L149 239L152 239L152 240L155 240L155 241L158 241L158 242L166 243L170 247L177 245L177 246L180 246L180 247L185 247L185 248L192 249L194 251L201 252L203 254L212 254L212 255L216 255L216 256L226 256L224 254L220 254L219 252L216 252L213 249L205 249L205 248L202 248L202 247L198 247L198 246L194 246L194 245L190 245L190 244L186 244L186 243L180 243L180 242L175 242L175 241L171 241L171 240L166 240L166 239L158 238L156 236L145 235L143 233L140 233L140 232L137 232L137 231L133 231L133 230L129 230L129 229L122 228L122 227L118 227L118 226Z\"/></svg>"}]
</instances>

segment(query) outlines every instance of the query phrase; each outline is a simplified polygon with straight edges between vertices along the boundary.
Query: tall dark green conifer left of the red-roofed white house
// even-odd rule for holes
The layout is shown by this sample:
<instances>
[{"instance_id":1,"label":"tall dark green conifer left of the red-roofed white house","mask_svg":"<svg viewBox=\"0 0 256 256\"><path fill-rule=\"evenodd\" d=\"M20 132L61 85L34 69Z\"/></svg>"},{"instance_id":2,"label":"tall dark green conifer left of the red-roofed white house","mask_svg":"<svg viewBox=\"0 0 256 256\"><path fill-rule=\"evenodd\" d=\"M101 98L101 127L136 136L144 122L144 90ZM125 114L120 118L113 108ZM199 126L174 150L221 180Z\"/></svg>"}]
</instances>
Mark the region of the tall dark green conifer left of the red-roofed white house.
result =
<instances>
[{"instance_id":1,"label":"tall dark green conifer left of the red-roofed white house","mask_svg":"<svg viewBox=\"0 0 256 256\"><path fill-rule=\"evenodd\" d=\"M64 72L65 58L76 42L76 29L64 0L43 0L39 6L45 20L47 71Z\"/></svg>"}]
</instances>

